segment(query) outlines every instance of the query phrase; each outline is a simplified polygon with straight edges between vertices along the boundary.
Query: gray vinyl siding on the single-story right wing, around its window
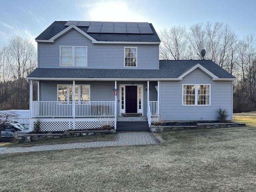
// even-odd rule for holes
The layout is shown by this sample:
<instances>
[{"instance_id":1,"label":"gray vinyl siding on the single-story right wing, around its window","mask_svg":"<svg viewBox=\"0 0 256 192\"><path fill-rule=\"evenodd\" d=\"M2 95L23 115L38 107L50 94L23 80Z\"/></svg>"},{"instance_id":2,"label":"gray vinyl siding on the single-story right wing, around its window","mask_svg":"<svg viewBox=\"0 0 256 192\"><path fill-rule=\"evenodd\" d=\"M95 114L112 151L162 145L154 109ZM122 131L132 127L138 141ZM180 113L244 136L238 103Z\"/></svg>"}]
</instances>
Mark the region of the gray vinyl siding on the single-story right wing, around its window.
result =
<instances>
[{"instance_id":1,"label":"gray vinyl siding on the single-story right wing, around its window","mask_svg":"<svg viewBox=\"0 0 256 192\"><path fill-rule=\"evenodd\" d=\"M210 106L182 106L182 84L210 84ZM166 121L216 120L217 110L227 110L232 120L232 81L212 81L212 78L196 69L182 81L161 82L160 111Z\"/></svg>"}]
</instances>

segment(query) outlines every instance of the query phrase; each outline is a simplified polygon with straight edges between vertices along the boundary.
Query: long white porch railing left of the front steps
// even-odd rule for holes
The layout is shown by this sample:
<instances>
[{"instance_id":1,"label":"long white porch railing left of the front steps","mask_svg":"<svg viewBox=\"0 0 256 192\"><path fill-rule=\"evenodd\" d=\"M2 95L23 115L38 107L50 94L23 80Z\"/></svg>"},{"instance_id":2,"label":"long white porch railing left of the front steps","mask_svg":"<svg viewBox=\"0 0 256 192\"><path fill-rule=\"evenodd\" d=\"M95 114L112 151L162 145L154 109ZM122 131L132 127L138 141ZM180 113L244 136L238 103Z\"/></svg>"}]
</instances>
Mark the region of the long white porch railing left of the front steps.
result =
<instances>
[{"instance_id":1,"label":"long white porch railing left of the front steps","mask_svg":"<svg viewBox=\"0 0 256 192\"><path fill-rule=\"evenodd\" d=\"M33 101L32 117L102 117L115 116L114 101ZM75 111L75 114L73 114Z\"/></svg>"}]
</instances>

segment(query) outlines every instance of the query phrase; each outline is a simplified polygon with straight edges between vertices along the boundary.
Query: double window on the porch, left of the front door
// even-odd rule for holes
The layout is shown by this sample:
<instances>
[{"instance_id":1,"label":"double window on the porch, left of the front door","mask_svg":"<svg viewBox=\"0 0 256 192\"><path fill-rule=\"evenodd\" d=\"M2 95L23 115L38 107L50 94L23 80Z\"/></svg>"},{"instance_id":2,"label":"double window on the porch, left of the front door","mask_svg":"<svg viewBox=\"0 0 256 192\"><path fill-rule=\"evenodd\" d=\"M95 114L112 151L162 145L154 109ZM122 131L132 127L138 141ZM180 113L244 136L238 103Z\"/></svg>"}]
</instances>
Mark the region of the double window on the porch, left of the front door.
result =
<instances>
[{"instance_id":1,"label":"double window on the porch, left of the front door","mask_svg":"<svg viewBox=\"0 0 256 192\"><path fill-rule=\"evenodd\" d=\"M74 101L73 85L58 85L58 101ZM75 101L90 101L90 85L75 86Z\"/></svg>"}]
</instances>

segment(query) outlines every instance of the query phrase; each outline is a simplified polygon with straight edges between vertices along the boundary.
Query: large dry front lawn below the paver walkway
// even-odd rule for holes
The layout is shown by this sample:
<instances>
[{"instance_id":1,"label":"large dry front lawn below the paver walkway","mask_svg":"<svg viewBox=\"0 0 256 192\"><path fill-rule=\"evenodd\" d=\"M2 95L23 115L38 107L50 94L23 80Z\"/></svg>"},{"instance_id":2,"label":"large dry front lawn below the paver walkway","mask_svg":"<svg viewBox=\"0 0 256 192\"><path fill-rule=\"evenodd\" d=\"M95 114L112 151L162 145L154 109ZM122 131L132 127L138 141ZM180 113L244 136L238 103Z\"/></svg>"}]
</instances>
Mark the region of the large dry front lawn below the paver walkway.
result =
<instances>
[{"instance_id":1,"label":"large dry front lawn below the paver walkway","mask_svg":"<svg viewBox=\"0 0 256 192\"><path fill-rule=\"evenodd\" d=\"M157 135L158 145L1 155L0 191L255 191L255 127Z\"/></svg>"}]
</instances>

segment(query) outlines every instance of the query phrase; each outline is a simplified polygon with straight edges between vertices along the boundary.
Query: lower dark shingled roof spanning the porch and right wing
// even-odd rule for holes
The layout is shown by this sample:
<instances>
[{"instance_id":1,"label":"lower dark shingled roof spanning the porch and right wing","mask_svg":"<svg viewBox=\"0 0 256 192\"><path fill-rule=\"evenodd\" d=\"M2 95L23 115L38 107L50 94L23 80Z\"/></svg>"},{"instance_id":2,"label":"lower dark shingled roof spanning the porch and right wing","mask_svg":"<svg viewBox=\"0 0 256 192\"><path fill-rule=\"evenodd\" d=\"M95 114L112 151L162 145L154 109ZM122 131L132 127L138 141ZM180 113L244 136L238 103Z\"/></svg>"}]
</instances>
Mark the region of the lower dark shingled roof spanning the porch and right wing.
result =
<instances>
[{"instance_id":1,"label":"lower dark shingled roof spanning the porch and right wing","mask_svg":"<svg viewBox=\"0 0 256 192\"><path fill-rule=\"evenodd\" d=\"M211 60L160 60L159 70L95 69L95 68L36 68L28 80L182 80L200 64L216 76L214 80L236 80L234 76Z\"/></svg>"}]
</instances>

